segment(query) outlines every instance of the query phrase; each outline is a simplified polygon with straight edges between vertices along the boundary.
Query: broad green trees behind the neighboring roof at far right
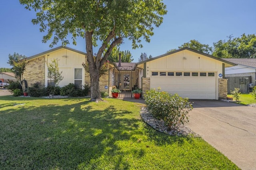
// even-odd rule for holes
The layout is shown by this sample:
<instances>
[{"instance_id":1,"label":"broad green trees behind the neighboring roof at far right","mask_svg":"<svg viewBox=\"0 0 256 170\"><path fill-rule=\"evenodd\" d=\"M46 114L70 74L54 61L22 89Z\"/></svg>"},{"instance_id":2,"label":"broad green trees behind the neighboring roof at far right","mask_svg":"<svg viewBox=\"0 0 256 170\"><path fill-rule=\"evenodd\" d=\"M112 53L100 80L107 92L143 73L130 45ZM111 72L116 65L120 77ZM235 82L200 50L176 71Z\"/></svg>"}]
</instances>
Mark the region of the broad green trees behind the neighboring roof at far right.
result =
<instances>
[{"instance_id":1,"label":"broad green trees behind the neighboring roof at far right","mask_svg":"<svg viewBox=\"0 0 256 170\"><path fill-rule=\"evenodd\" d=\"M228 36L228 41L220 40L214 45L212 55L218 58L256 58L256 35L242 34L234 38Z\"/></svg>"}]
</instances>

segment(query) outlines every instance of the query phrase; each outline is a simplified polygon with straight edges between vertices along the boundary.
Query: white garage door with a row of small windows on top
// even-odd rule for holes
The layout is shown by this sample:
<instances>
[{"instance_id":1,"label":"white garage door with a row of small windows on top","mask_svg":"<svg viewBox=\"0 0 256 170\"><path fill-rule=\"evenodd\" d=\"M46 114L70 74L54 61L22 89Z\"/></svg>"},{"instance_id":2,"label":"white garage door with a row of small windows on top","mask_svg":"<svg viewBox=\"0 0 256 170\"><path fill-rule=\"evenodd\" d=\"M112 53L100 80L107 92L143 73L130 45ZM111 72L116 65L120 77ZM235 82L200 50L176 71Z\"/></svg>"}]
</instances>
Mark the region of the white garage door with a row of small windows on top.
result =
<instances>
[{"instance_id":1,"label":"white garage door with a row of small windows on top","mask_svg":"<svg viewBox=\"0 0 256 170\"><path fill-rule=\"evenodd\" d=\"M216 72L151 72L150 88L182 98L216 99Z\"/></svg>"}]
</instances>

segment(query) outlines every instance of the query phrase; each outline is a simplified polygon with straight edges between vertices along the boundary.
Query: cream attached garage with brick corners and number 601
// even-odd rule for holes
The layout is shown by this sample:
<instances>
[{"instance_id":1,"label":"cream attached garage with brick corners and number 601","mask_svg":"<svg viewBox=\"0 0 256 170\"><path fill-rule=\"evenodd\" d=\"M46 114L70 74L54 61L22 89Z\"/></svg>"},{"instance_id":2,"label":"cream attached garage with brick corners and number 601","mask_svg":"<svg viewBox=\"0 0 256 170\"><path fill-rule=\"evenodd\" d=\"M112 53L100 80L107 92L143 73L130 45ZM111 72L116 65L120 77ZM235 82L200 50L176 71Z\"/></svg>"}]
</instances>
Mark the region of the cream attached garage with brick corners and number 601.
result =
<instances>
[{"instance_id":1,"label":"cream attached garage with brick corners and number 601","mask_svg":"<svg viewBox=\"0 0 256 170\"><path fill-rule=\"evenodd\" d=\"M160 87L183 98L214 100L227 94L225 87L220 93L223 88L219 86L225 86L224 68L233 65L188 47L138 63L147 82L142 85L144 92Z\"/></svg>"}]
</instances>

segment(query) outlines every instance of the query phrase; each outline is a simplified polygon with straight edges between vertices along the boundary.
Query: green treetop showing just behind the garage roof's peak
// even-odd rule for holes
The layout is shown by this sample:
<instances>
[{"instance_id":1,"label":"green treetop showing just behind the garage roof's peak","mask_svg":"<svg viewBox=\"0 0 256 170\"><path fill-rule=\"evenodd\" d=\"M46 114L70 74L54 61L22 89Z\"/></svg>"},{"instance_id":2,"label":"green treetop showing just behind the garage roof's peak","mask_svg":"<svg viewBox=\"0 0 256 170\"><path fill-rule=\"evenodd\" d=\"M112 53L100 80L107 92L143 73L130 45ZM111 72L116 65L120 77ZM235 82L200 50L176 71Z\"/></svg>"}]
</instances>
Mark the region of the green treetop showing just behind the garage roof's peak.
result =
<instances>
[{"instance_id":1,"label":"green treetop showing just behind the garage roof's peak","mask_svg":"<svg viewBox=\"0 0 256 170\"><path fill-rule=\"evenodd\" d=\"M212 53L212 47L210 47L208 44L202 44L197 40L190 40L187 43L184 43L183 45L181 45L180 47L178 47L179 49L184 48L184 47L189 47L191 49L200 51L202 53L206 53L206 54L211 54Z\"/></svg>"}]
</instances>

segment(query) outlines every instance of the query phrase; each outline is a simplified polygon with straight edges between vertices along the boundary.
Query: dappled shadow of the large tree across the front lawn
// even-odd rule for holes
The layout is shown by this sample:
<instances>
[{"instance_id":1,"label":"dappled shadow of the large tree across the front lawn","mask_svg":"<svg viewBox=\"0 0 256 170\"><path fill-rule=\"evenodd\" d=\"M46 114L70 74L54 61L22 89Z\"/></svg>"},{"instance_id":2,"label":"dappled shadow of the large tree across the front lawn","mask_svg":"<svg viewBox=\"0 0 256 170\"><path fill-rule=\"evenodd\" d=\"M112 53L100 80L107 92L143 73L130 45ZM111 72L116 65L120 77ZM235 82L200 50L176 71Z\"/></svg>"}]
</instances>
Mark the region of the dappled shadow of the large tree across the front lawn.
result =
<instances>
[{"instance_id":1,"label":"dappled shadow of the large tree across the front lawn","mask_svg":"<svg viewBox=\"0 0 256 170\"><path fill-rule=\"evenodd\" d=\"M111 102L72 100L77 103L58 106L56 100L42 107L4 111L13 114L0 125L0 166L129 169L132 162L128 160L143 158L152 141L156 145L183 143L184 138L167 137L147 127L139 113L125 109L128 102L117 107Z\"/></svg>"}]
</instances>

